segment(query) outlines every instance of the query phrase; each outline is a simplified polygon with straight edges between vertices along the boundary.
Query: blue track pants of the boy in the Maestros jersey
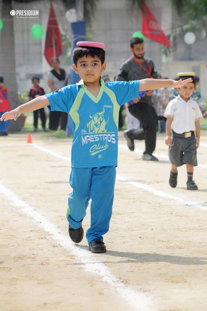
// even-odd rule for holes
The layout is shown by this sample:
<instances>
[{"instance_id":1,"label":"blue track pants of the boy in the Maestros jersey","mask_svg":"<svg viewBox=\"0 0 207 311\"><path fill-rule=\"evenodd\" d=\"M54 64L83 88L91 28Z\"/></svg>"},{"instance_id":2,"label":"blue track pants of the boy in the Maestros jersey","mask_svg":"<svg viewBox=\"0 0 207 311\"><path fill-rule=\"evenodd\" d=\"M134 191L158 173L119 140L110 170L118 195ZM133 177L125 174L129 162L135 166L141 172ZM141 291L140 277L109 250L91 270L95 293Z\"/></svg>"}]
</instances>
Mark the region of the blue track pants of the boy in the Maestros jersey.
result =
<instances>
[{"instance_id":1,"label":"blue track pants of the boy in the Maestros jersey","mask_svg":"<svg viewBox=\"0 0 207 311\"><path fill-rule=\"evenodd\" d=\"M92 199L91 226L86 233L88 244L94 239L103 241L102 235L109 230L115 176L115 166L71 169L70 186L73 192L68 198L67 220L73 229L78 229L86 216L88 202Z\"/></svg>"}]
</instances>

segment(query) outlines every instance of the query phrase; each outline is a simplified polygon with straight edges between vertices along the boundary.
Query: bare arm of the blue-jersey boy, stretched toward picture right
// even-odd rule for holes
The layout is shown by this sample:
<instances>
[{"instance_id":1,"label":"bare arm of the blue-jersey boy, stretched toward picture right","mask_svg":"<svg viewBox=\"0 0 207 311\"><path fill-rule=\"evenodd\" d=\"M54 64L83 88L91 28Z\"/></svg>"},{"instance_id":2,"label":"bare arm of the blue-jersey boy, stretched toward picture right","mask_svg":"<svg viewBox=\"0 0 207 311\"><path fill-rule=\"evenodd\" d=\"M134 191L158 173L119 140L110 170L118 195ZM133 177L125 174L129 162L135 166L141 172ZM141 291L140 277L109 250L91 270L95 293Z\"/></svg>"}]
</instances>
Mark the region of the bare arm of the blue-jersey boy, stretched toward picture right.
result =
<instances>
[{"instance_id":1,"label":"bare arm of the blue-jersey boy, stretched toward picture right","mask_svg":"<svg viewBox=\"0 0 207 311\"><path fill-rule=\"evenodd\" d=\"M179 81L175 80L159 80L159 79L142 79L139 80L139 91L147 91L147 90L156 90L156 89L161 89L163 87L176 87L179 88L183 85L185 85L187 82L192 82L193 80L191 78L188 78L186 80L180 79Z\"/></svg>"}]
</instances>

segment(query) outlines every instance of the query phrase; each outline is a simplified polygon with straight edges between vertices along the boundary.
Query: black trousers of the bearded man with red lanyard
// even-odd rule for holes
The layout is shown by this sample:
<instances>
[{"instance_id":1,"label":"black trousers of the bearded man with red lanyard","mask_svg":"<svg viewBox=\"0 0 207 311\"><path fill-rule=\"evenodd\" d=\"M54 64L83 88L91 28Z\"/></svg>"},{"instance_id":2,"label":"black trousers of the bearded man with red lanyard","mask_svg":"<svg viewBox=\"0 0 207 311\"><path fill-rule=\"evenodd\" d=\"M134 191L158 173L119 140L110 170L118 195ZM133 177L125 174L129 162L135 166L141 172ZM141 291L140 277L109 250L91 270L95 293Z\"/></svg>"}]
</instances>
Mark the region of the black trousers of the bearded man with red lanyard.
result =
<instances>
[{"instance_id":1,"label":"black trousers of the bearded man with red lanyard","mask_svg":"<svg viewBox=\"0 0 207 311\"><path fill-rule=\"evenodd\" d=\"M128 106L130 114L137 118L141 123L143 129L130 130L129 137L133 139L145 139L144 154L152 154L156 146L156 128L158 125L158 117L155 109L148 104L138 102L137 104Z\"/></svg>"}]
</instances>

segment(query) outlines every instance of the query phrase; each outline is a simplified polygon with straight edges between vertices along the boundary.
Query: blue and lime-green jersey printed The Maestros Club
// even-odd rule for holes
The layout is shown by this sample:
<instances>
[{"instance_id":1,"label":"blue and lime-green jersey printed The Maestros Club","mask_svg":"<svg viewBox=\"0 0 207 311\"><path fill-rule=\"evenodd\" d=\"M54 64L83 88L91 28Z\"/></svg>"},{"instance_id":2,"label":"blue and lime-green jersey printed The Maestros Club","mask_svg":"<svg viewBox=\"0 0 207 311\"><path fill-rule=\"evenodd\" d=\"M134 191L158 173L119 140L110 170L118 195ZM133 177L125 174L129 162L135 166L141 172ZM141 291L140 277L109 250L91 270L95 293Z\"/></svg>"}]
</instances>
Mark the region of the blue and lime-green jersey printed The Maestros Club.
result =
<instances>
[{"instance_id":1,"label":"blue and lime-green jersey printed The Maestros Club","mask_svg":"<svg viewBox=\"0 0 207 311\"><path fill-rule=\"evenodd\" d=\"M50 110L68 112L74 134L71 167L117 166L120 106L138 98L139 81L104 83L97 98L83 80L46 94Z\"/></svg>"}]
</instances>

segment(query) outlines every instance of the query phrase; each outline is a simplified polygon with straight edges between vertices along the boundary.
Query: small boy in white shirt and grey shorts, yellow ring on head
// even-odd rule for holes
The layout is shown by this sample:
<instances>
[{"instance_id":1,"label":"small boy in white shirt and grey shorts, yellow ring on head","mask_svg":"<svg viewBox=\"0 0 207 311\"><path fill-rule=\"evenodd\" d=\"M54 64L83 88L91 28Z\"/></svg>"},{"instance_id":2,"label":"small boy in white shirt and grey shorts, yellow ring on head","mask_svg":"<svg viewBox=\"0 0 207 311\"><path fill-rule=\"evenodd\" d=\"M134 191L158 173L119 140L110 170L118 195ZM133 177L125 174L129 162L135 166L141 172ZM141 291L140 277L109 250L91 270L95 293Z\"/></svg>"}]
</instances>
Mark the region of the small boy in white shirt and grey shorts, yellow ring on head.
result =
<instances>
[{"instance_id":1,"label":"small boy in white shirt and grey shorts, yellow ring on head","mask_svg":"<svg viewBox=\"0 0 207 311\"><path fill-rule=\"evenodd\" d=\"M164 117L167 118L165 144L169 146L169 158L172 163L169 184L172 188L177 186L177 168L186 164L187 189L197 190L198 187L192 178L193 168L198 165L196 150L199 147L200 119L203 116L198 104L191 97L195 87L195 73L178 73L178 76L182 80L191 77L193 81L179 89L178 97L169 102L164 112ZM170 129L173 130L172 141Z\"/></svg>"}]
</instances>

